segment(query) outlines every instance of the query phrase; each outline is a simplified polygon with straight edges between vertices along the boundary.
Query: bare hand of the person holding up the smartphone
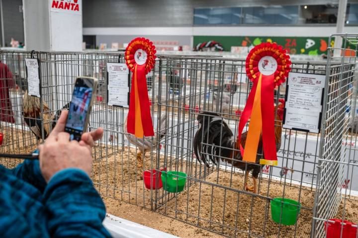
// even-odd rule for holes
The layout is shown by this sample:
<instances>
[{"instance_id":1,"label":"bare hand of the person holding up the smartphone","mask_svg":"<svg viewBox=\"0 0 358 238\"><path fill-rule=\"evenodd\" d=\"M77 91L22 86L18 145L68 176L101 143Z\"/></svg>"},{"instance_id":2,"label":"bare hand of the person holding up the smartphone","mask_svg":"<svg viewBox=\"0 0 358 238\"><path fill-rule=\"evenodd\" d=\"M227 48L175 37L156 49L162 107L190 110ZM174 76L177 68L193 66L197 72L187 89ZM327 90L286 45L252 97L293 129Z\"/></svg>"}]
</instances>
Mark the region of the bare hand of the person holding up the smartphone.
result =
<instances>
[{"instance_id":1,"label":"bare hand of the person holding up the smartphone","mask_svg":"<svg viewBox=\"0 0 358 238\"><path fill-rule=\"evenodd\" d=\"M78 168L90 175L92 168L91 148L100 139L103 129L84 133L81 141L70 141L70 134L64 132L68 112L62 111L50 135L39 146L39 162L42 176L48 182L57 172L67 168Z\"/></svg>"}]
</instances>

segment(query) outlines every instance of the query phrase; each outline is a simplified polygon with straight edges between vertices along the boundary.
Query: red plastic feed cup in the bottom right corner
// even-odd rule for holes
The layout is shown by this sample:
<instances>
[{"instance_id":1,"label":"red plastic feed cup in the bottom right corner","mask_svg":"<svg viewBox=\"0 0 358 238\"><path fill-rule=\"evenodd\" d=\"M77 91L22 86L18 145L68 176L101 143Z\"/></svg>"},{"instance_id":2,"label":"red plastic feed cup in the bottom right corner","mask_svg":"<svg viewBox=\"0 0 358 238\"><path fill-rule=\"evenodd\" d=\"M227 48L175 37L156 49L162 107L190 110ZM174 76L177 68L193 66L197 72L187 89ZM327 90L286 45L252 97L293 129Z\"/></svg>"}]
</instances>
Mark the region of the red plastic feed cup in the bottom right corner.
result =
<instances>
[{"instance_id":1,"label":"red plastic feed cup in the bottom right corner","mask_svg":"<svg viewBox=\"0 0 358 238\"><path fill-rule=\"evenodd\" d=\"M341 238L342 220L330 219L331 222L325 222L326 238ZM349 221L343 221L346 225L343 225L342 238L356 238L357 228L352 227L355 223Z\"/></svg>"}]
</instances>

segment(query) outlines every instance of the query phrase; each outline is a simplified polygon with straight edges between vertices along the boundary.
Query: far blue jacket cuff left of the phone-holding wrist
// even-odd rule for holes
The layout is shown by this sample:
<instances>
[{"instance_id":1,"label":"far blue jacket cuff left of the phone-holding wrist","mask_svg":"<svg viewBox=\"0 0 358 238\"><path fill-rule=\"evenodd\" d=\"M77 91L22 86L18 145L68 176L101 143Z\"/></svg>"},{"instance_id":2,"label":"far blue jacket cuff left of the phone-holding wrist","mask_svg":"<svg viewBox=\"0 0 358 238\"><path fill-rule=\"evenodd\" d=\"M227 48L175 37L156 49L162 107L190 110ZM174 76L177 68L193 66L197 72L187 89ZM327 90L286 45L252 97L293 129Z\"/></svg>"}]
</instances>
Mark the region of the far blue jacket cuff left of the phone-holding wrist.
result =
<instances>
[{"instance_id":1,"label":"far blue jacket cuff left of the phone-holding wrist","mask_svg":"<svg viewBox=\"0 0 358 238\"><path fill-rule=\"evenodd\" d=\"M38 160L25 160L23 163L10 170L10 172L17 178L30 183L41 192L45 190L47 183L42 177Z\"/></svg>"}]
</instances>

